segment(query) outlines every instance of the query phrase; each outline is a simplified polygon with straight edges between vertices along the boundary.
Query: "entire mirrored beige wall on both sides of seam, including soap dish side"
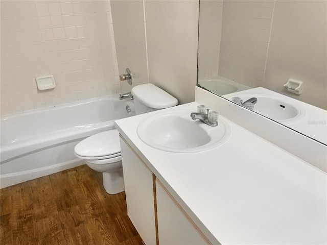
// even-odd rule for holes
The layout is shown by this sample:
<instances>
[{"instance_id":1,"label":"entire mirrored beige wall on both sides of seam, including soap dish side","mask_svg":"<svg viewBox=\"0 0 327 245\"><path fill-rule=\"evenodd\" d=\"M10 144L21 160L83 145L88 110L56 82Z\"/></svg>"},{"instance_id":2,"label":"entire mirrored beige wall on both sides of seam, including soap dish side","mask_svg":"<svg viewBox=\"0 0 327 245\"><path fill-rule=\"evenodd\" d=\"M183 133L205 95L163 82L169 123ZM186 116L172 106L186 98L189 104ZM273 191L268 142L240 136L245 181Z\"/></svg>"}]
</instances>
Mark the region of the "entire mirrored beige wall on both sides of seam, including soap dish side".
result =
<instances>
[{"instance_id":1,"label":"entire mirrored beige wall on both sides of seam, including soap dish side","mask_svg":"<svg viewBox=\"0 0 327 245\"><path fill-rule=\"evenodd\" d=\"M206 28L209 26L211 22ZM218 75L250 87L264 86L327 109L326 27L326 1L225 0ZM217 29L220 24L212 28L213 32ZM201 52L203 39L199 40ZM213 41L205 45L208 42ZM199 69L204 70L200 58ZM301 95L283 87L290 78L303 81Z\"/></svg>"}]
</instances>

